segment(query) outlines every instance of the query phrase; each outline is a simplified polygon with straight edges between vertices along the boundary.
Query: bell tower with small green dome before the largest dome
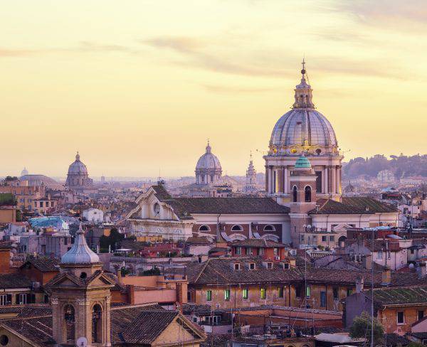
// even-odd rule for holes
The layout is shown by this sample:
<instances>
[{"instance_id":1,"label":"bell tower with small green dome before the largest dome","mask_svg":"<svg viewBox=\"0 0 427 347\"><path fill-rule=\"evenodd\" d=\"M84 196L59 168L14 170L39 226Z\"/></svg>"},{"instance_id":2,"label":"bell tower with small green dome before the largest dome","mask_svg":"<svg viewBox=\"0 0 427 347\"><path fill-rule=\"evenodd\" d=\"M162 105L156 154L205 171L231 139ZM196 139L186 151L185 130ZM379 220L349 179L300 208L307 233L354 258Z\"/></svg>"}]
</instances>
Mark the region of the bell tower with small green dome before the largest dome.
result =
<instances>
[{"instance_id":1,"label":"bell tower with small green dome before the largest dome","mask_svg":"<svg viewBox=\"0 0 427 347\"><path fill-rule=\"evenodd\" d=\"M312 219L308 214L316 208L316 173L310 160L304 154L295 162L290 171L290 236L292 245L300 244L300 232L305 226L311 225Z\"/></svg>"}]
</instances>

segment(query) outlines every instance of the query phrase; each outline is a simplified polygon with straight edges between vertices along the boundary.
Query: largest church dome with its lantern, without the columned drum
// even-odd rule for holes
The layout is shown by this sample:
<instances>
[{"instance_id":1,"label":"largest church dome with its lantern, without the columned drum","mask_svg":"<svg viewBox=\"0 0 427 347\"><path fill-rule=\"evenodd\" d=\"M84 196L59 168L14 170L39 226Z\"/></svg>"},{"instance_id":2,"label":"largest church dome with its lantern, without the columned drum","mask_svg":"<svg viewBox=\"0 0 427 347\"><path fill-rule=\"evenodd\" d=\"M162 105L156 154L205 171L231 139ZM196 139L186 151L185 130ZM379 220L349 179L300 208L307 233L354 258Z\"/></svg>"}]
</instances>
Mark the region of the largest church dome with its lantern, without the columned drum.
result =
<instances>
[{"instance_id":1,"label":"largest church dome with its lantern, without the columned drum","mask_svg":"<svg viewBox=\"0 0 427 347\"><path fill-rule=\"evenodd\" d=\"M338 143L334 129L326 117L315 110L305 69L301 73L301 82L295 87L292 110L280 117L271 133L270 154L336 153Z\"/></svg>"}]
</instances>

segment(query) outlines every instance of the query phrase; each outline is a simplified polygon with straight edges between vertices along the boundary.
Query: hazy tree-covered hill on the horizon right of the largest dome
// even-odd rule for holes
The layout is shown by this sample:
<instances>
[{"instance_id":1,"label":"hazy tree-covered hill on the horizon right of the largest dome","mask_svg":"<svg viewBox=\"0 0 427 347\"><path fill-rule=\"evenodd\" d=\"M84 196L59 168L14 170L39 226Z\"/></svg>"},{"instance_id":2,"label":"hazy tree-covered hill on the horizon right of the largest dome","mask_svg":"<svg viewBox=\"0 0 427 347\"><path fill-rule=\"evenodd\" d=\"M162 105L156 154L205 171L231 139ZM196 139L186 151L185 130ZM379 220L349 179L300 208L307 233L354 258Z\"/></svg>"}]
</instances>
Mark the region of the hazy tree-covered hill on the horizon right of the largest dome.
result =
<instances>
[{"instance_id":1,"label":"hazy tree-covered hill on the horizon right of the largest dome","mask_svg":"<svg viewBox=\"0 0 427 347\"><path fill-rule=\"evenodd\" d=\"M390 170L396 178L410 176L427 177L427 154L415 156L390 156L387 159L382 154L376 154L371 158L354 158L344 164L342 170L344 178L356 178L358 176L376 177L381 170Z\"/></svg>"}]
</instances>

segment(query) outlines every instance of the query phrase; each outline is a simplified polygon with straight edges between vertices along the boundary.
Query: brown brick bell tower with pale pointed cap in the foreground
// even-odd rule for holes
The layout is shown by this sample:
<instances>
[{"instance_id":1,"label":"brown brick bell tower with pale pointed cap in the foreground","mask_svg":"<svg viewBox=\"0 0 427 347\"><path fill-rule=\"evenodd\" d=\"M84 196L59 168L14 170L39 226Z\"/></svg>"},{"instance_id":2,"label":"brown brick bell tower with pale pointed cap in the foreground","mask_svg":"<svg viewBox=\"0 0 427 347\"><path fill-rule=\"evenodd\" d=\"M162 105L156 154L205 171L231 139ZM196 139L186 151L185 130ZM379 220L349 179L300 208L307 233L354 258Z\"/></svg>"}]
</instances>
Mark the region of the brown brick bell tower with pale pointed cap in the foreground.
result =
<instances>
[{"instance_id":1,"label":"brown brick bell tower with pale pointed cap in the foreground","mask_svg":"<svg viewBox=\"0 0 427 347\"><path fill-rule=\"evenodd\" d=\"M111 346L110 288L114 282L90 250L80 223L73 247L63 255L60 274L50 283L53 339L56 346Z\"/></svg>"}]
</instances>

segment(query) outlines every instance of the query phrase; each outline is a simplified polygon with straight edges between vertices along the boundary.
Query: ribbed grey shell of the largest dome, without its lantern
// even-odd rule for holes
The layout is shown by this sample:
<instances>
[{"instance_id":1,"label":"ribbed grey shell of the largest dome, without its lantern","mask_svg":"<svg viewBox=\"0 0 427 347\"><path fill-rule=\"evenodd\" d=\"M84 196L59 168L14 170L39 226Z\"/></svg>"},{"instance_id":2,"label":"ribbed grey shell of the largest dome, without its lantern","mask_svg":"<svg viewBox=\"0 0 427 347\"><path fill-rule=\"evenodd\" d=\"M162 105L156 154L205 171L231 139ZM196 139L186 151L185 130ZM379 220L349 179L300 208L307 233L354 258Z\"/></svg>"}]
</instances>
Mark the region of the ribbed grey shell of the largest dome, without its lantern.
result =
<instances>
[{"instance_id":1,"label":"ribbed grey shell of the largest dome, without its lantern","mask_svg":"<svg viewBox=\"0 0 427 347\"><path fill-rule=\"evenodd\" d=\"M337 137L323 114L312 109L295 108L283 114L275 124L270 145L337 146Z\"/></svg>"}]
</instances>

